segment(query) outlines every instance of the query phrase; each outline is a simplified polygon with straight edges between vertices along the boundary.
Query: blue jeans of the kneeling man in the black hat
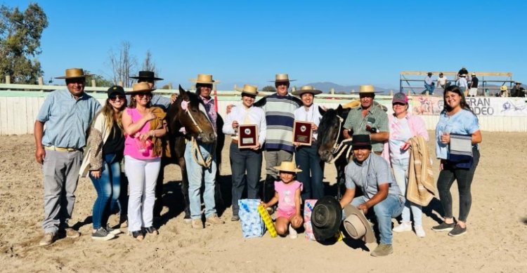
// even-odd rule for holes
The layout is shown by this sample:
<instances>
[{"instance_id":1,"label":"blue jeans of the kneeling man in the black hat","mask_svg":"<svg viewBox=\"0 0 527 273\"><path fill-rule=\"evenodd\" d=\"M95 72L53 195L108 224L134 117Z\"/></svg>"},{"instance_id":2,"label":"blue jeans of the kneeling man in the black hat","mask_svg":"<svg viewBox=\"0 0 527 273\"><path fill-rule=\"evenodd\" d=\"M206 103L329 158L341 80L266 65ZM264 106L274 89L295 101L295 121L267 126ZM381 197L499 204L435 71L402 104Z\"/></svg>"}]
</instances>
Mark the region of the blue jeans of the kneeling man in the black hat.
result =
<instances>
[{"instance_id":1,"label":"blue jeans of the kneeling man in the black hat","mask_svg":"<svg viewBox=\"0 0 527 273\"><path fill-rule=\"evenodd\" d=\"M351 201L352 206L363 204L368 199L364 196L355 197ZM403 211L404 198L400 198L394 194L388 194L386 199L373 206L375 217L377 218L377 226L381 234L381 244L391 244L393 234L391 233L391 218L396 218L401 215Z\"/></svg>"}]
</instances>

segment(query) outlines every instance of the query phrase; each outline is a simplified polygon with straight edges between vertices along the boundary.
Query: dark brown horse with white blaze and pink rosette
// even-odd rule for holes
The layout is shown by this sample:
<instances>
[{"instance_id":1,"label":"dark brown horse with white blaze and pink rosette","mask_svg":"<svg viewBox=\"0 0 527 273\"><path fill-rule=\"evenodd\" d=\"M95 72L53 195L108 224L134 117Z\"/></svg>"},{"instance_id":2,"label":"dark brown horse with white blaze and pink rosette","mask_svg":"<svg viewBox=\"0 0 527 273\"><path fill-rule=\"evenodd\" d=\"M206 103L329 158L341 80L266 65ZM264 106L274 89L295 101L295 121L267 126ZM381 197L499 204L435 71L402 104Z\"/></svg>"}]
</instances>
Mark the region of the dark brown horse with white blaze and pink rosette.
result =
<instances>
[{"instance_id":1,"label":"dark brown horse with white blaze and pink rosette","mask_svg":"<svg viewBox=\"0 0 527 273\"><path fill-rule=\"evenodd\" d=\"M190 141L191 138L195 138L204 143L213 143L217 140L216 133L207 114L204 112L202 100L200 100L195 93L185 91L181 86L179 86L178 98L167 111L167 124L169 152L165 150L164 156L162 157L160 174L157 178L157 201L154 211L155 215L160 215L162 209L160 197L162 194L164 179L164 166L167 166L168 164L178 164L181 168L181 192L184 199L185 220L190 220L188 176L184 157L186 147L185 141ZM180 132L182 127L185 127L185 133Z\"/></svg>"}]
</instances>

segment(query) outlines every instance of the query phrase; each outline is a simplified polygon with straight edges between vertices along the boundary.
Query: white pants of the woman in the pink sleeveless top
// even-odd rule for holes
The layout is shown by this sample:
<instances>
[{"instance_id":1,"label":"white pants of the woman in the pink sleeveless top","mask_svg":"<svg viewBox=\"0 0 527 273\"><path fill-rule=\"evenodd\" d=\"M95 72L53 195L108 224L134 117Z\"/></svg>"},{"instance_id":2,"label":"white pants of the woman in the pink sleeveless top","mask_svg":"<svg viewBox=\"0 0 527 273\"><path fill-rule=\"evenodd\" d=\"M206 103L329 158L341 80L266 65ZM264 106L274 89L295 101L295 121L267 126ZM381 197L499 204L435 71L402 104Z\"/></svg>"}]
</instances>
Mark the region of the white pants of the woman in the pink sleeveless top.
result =
<instances>
[{"instance_id":1,"label":"white pants of the woman in the pink sleeveless top","mask_svg":"<svg viewBox=\"0 0 527 273\"><path fill-rule=\"evenodd\" d=\"M160 167L159 157L145 160L124 156L124 171L130 187L128 230L131 232L141 230L141 227L152 226L155 182L160 173Z\"/></svg>"}]
</instances>

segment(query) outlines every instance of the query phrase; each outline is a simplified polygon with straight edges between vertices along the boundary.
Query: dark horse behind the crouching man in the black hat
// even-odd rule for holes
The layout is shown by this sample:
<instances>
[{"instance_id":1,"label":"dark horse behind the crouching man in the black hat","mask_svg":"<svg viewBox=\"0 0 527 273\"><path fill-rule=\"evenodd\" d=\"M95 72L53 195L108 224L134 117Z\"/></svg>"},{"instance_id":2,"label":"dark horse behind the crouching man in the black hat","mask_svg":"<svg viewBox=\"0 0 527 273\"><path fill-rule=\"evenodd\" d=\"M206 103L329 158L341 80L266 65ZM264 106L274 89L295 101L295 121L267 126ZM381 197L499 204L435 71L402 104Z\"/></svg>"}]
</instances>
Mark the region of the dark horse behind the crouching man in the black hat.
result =
<instances>
[{"instance_id":1,"label":"dark horse behind the crouching man in the black hat","mask_svg":"<svg viewBox=\"0 0 527 273\"><path fill-rule=\"evenodd\" d=\"M334 163L337 168L337 197L342 196L341 189L346 183L344 168L348 164L348 156L351 145L344 141L342 131L344 121L348 117L350 109L344 109L341 105L337 109L318 108L322 119L318 126L318 155L322 161Z\"/></svg>"}]
</instances>

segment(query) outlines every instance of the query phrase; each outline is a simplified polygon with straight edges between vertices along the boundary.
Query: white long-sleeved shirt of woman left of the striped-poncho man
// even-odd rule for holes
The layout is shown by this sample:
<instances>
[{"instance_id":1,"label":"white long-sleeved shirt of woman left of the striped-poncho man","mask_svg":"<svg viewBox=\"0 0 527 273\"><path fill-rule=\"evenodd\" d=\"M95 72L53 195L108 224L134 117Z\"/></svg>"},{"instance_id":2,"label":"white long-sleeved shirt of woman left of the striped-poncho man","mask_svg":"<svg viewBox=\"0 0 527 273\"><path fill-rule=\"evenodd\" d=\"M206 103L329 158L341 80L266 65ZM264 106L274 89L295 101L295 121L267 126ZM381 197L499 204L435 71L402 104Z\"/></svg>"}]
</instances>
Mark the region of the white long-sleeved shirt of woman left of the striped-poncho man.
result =
<instances>
[{"instance_id":1,"label":"white long-sleeved shirt of woman left of the striped-poncho man","mask_svg":"<svg viewBox=\"0 0 527 273\"><path fill-rule=\"evenodd\" d=\"M245 122L247 119L247 122ZM259 107L245 107L241 104L233 107L230 113L225 119L223 124L223 133L226 135L234 135L233 121L238 121L238 124L256 124L258 128L258 142L260 146L263 146L263 142L266 142L266 113Z\"/></svg>"}]
</instances>

